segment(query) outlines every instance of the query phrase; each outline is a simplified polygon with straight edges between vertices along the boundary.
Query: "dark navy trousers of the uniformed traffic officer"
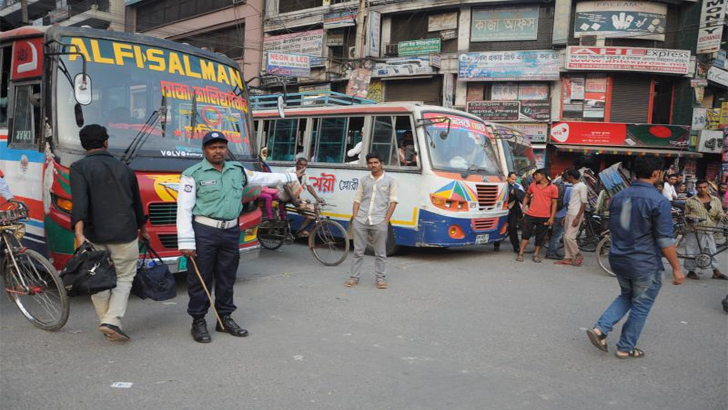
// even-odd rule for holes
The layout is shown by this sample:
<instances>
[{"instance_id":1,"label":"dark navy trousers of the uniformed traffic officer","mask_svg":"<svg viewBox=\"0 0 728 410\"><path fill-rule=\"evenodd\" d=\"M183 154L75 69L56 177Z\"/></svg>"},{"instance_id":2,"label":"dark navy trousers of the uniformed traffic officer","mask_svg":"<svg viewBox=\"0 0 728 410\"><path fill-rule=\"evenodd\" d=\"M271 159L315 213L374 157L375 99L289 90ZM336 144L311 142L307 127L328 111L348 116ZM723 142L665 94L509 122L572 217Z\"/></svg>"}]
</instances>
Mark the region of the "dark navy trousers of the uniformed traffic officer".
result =
<instances>
[{"instance_id":1,"label":"dark navy trousers of the uniformed traffic officer","mask_svg":"<svg viewBox=\"0 0 728 410\"><path fill-rule=\"evenodd\" d=\"M218 229L211 226L192 222L195 230L195 246L197 267L200 275L212 293L214 284L215 309L220 316L227 316L236 309L233 303L233 286L240 261L238 242L240 241L240 227ZM205 317L210 308L205 290L202 288L192 263L187 265L187 293L190 303L187 313L193 319Z\"/></svg>"}]
</instances>

